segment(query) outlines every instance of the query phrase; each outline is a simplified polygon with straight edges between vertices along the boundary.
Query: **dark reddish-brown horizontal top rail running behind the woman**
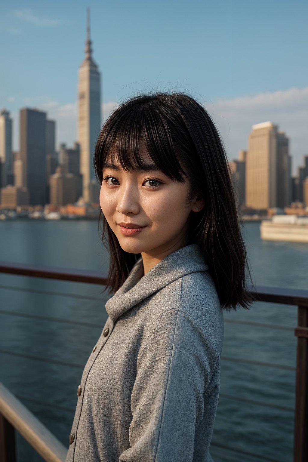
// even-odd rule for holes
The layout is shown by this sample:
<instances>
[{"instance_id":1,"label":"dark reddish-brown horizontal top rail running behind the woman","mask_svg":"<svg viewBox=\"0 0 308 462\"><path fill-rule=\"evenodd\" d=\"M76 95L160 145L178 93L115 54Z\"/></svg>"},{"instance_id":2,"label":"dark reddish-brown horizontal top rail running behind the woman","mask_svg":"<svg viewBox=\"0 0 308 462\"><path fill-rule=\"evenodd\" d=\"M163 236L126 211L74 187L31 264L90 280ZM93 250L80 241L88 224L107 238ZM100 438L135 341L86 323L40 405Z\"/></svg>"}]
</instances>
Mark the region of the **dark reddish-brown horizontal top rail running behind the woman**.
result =
<instances>
[{"instance_id":1,"label":"dark reddish-brown horizontal top rail running behind the woman","mask_svg":"<svg viewBox=\"0 0 308 462\"><path fill-rule=\"evenodd\" d=\"M107 274L99 271L26 265L8 261L0 261L0 273L72 282L85 282L87 284L98 284L100 286L104 286L107 279ZM253 294L256 301L308 307L308 290L269 286L255 286L255 288L253 288L247 286L247 291Z\"/></svg>"}]
</instances>

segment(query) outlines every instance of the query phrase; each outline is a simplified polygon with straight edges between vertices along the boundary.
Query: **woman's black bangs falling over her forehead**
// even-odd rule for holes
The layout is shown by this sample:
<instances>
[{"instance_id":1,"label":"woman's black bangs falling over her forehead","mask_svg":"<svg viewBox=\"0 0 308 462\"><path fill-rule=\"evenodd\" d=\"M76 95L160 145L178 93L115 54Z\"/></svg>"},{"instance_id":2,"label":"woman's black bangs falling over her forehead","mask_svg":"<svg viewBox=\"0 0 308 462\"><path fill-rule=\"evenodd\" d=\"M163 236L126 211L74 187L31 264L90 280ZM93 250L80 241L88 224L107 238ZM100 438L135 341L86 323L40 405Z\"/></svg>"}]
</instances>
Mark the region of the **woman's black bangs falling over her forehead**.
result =
<instances>
[{"instance_id":1,"label":"woman's black bangs falling over her forehead","mask_svg":"<svg viewBox=\"0 0 308 462\"><path fill-rule=\"evenodd\" d=\"M141 151L147 153L166 176L184 182L187 176L182 167L183 147L172 139L170 121L159 108L149 105L135 108L124 104L116 110L102 128L95 152L97 176L103 175L103 164L118 164L126 171L145 170Z\"/></svg>"}]
</instances>

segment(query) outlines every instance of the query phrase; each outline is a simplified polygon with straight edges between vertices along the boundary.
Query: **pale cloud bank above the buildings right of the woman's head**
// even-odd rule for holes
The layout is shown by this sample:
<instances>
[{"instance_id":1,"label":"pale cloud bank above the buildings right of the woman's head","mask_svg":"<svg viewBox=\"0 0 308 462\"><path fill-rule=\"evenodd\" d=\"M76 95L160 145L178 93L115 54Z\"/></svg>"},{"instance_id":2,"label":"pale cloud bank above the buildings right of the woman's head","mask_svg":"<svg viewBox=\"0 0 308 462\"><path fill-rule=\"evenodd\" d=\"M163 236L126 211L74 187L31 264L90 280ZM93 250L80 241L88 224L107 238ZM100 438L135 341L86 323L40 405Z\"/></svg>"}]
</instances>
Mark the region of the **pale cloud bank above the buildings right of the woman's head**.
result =
<instances>
[{"instance_id":1,"label":"pale cloud bank above the buildings right of the woman's head","mask_svg":"<svg viewBox=\"0 0 308 462\"><path fill-rule=\"evenodd\" d=\"M223 138L229 159L248 147L248 135L256 123L271 121L289 138L292 174L307 153L308 87L290 88L205 104Z\"/></svg>"}]
</instances>

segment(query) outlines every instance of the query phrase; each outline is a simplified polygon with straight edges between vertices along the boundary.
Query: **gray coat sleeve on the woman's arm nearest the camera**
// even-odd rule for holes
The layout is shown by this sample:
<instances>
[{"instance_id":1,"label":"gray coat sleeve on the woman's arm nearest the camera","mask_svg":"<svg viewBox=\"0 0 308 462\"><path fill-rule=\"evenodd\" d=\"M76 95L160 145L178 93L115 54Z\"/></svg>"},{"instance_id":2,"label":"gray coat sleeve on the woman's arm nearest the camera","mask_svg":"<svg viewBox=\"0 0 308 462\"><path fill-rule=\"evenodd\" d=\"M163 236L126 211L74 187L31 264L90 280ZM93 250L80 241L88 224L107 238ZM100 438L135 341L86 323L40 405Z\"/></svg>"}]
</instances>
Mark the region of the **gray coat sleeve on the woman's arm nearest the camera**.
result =
<instances>
[{"instance_id":1,"label":"gray coat sleeve on the woman's arm nearest the camera","mask_svg":"<svg viewBox=\"0 0 308 462\"><path fill-rule=\"evenodd\" d=\"M140 347L131 394L130 448L119 462L189 462L204 417L202 439L210 445L219 352L199 322L179 309L165 311L152 324Z\"/></svg>"}]
</instances>

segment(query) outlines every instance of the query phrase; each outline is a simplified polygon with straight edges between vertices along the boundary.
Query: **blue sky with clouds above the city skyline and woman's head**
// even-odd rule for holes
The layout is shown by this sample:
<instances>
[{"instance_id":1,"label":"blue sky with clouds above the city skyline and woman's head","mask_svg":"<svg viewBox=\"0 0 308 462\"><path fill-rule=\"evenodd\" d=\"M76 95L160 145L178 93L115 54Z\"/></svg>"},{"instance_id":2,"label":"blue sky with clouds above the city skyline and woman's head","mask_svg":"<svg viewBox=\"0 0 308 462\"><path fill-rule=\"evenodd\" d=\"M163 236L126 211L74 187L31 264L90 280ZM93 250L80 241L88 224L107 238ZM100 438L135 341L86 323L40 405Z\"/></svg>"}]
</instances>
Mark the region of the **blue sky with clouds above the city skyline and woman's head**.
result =
<instances>
[{"instance_id":1,"label":"blue sky with clouds above the city skyline and woman's head","mask_svg":"<svg viewBox=\"0 0 308 462\"><path fill-rule=\"evenodd\" d=\"M12 112L14 149L25 106L57 121L57 145L76 139L87 6L104 119L136 91L185 91L209 110L230 158L247 147L253 123L272 120L290 136L293 172L302 163L308 152L308 2L302 0L2 3L0 107Z\"/></svg>"}]
</instances>

